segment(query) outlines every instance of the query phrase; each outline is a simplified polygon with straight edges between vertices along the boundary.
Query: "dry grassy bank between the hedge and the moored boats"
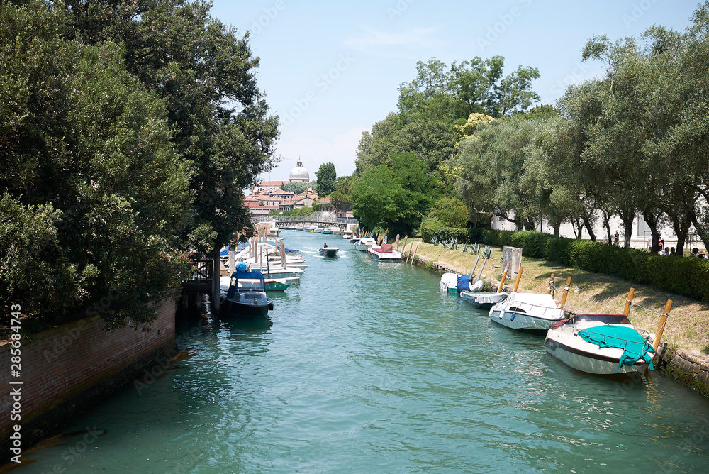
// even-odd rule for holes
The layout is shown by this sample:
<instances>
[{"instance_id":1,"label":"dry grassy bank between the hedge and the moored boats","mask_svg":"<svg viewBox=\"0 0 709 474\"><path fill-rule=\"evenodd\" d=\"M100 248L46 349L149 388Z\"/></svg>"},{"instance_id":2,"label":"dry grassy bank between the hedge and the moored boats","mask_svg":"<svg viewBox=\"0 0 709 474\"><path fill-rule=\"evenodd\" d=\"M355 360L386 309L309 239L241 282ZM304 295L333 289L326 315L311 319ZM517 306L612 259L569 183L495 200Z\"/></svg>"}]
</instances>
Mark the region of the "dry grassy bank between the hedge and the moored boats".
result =
<instances>
[{"instance_id":1,"label":"dry grassy bank between the hedge and the moored boats","mask_svg":"<svg viewBox=\"0 0 709 474\"><path fill-rule=\"evenodd\" d=\"M420 239L413 239L413 241L414 247L416 243L419 244L417 255L446 263L464 272L472 270L477 258L469 252L448 250L440 245L433 246L430 243L420 242ZM407 245L407 251L409 248L410 246ZM488 260L483 270L482 279L499 281L502 272L499 268L501 263L502 249L494 248L492 258ZM522 265L524 272L519 291L546 292L549 276L554 273L556 275L554 281L559 288L555 296L557 301L561 298L561 290L566 278L571 277L571 290L566 299L566 308L576 313L622 313L627 292L630 287L634 287L635 306L630 310L630 319L635 327L650 332L657 330L659 314L655 312L661 313L667 300L671 299L672 309L662 341L669 341L675 349L709 353L709 304L677 294L661 292L644 285L632 284L616 277L576 270L545 260L526 258L524 255ZM476 273L479 269L478 267Z\"/></svg>"}]
</instances>

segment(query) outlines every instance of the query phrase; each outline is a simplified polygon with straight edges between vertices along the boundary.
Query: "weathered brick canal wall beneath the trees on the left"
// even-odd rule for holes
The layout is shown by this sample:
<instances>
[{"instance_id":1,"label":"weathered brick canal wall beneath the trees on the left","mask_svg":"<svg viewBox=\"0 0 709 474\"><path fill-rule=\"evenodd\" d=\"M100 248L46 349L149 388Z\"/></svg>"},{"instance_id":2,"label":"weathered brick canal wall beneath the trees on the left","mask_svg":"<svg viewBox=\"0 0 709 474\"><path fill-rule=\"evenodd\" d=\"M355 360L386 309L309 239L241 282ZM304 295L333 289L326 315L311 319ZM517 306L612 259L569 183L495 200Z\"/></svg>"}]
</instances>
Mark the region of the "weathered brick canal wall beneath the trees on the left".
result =
<instances>
[{"instance_id":1,"label":"weathered brick canal wall beneath the trees on the left","mask_svg":"<svg viewBox=\"0 0 709 474\"><path fill-rule=\"evenodd\" d=\"M11 375L11 345L0 346L0 445L21 424L23 451L66 424L72 415L137 377L156 358L175 352L175 302L162 302L150 331L104 331L99 316L21 339L21 377ZM21 381L23 385L10 385ZM11 421L10 390L21 387L21 421ZM7 451L6 451L7 452Z\"/></svg>"}]
</instances>

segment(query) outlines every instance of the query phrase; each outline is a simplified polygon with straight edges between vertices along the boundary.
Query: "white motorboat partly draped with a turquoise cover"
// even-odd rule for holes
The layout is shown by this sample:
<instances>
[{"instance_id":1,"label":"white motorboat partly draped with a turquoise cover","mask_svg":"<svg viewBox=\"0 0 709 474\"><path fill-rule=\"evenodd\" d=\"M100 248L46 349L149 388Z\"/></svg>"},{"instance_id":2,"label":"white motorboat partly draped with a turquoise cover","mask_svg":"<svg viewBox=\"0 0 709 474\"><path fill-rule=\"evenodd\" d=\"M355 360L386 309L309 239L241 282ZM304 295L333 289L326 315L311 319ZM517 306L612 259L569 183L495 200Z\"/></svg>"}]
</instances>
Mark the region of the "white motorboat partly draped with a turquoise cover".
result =
<instances>
[{"instance_id":1,"label":"white motorboat partly draped with a turquoise cover","mask_svg":"<svg viewBox=\"0 0 709 474\"><path fill-rule=\"evenodd\" d=\"M554 324L544 346L571 368L613 375L652 370L653 339L638 333L625 314L578 314Z\"/></svg>"}]
</instances>

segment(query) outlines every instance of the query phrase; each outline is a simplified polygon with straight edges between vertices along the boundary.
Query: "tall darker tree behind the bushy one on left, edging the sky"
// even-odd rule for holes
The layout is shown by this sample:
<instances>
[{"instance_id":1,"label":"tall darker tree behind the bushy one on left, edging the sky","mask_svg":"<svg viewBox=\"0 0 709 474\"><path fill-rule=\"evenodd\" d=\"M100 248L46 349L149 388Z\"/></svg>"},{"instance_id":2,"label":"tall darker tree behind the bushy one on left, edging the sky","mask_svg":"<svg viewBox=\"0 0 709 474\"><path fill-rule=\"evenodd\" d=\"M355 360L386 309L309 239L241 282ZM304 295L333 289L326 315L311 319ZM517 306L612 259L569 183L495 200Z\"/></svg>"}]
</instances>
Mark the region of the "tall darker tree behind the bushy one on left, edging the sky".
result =
<instances>
[{"instance_id":1,"label":"tall darker tree behind the bushy one on left, edging the sky","mask_svg":"<svg viewBox=\"0 0 709 474\"><path fill-rule=\"evenodd\" d=\"M242 189L272 165L278 120L257 87L248 34L211 17L202 0L64 5L70 38L125 45L128 71L164 98L174 147L195 170L194 212L182 231L190 245L220 248L249 227Z\"/></svg>"}]
</instances>

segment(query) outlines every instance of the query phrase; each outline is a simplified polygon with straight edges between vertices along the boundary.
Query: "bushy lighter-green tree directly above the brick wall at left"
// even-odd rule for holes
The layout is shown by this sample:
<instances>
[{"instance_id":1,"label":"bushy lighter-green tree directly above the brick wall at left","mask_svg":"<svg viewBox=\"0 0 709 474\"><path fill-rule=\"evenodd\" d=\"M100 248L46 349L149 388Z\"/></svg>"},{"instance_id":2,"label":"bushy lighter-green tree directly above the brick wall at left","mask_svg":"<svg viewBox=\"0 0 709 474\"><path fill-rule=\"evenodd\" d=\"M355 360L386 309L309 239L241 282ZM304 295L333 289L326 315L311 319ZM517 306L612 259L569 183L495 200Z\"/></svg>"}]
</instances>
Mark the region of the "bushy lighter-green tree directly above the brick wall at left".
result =
<instances>
[{"instance_id":1,"label":"bushy lighter-green tree directly above the brick wall at left","mask_svg":"<svg viewBox=\"0 0 709 474\"><path fill-rule=\"evenodd\" d=\"M148 304L191 265L174 235L189 217L189 162L165 102L125 70L122 46L67 40L65 12L0 4L0 306L62 321L102 305L109 328L152 321ZM95 314L95 313L94 313Z\"/></svg>"}]
</instances>

